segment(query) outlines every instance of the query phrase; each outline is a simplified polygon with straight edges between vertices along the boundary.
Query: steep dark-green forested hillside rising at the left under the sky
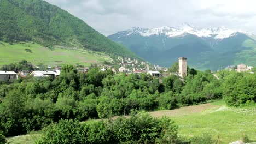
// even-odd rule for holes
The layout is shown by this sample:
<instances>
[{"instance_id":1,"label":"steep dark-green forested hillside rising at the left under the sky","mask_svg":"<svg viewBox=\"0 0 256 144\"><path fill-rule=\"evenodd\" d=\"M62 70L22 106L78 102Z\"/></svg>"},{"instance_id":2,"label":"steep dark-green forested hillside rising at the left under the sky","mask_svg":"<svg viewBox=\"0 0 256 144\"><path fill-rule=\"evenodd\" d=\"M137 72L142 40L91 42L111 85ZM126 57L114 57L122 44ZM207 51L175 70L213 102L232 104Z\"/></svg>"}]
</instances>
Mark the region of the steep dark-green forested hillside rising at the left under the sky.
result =
<instances>
[{"instance_id":1,"label":"steep dark-green forested hillside rising at the left under the sky","mask_svg":"<svg viewBox=\"0 0 256 144\"><path fill-rule=\"evenodd\" d=\"M1 0L0 41L33 41L43 46L80 47L136 57L84 21L42 0Z\"/></svg>"}]
</instances>

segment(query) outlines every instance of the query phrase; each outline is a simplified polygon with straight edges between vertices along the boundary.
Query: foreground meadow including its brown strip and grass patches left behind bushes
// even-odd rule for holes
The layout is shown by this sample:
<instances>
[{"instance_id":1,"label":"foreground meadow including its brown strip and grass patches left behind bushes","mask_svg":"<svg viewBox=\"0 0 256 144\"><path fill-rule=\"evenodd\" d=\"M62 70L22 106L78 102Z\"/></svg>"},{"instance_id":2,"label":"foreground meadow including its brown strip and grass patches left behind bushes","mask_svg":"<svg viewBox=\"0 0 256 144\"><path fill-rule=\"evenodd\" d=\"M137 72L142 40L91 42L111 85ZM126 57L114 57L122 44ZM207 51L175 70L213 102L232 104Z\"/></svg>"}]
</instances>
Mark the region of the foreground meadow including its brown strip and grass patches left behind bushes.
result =
<instances>
[{"instance_id":1,"label":"foreground meadow including its brown strip and grass patches left behind bushes","mask_svg":"<svg viewBox=\"0 0 256 144\"><path fill-rule=\"evenodd\" d=\"M168 116L179 126L178 135L184 137L200 136L209 133L214 139L220 135L221 143L242 140L247 135L256 141L256 107L230 108L223 101L181 107L175 110L149 112L155 117ZM92 122L93 120L87 121ZM39 133L8 138L9 143L34 143Z\"/></svg>"}]
</instances>

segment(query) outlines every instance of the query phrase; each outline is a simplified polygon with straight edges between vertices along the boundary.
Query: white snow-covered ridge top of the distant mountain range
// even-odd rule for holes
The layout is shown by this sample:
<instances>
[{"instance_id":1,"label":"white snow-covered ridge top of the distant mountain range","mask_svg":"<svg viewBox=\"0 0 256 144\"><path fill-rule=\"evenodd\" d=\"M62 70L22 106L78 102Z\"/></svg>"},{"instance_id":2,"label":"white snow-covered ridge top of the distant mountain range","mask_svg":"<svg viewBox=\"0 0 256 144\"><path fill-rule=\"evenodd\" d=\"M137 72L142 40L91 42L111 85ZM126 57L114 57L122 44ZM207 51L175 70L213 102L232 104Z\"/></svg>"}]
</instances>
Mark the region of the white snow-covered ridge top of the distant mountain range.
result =
<instances>
[{"instance_id":1,"label":"white snow-covered ridge top of the distant mountain range","mask_svg":"<svg viewBox=\"0 0 256 144\"><path fill-rule=\"evenodd\" d=\"M178 27L158 27L158 28L139 28L132 27L127 31L122 31L119 33L123 33L125 36L129 36L131 34L140 34L144 37L149 37L151 35L160 35L164 34L168 37L177 37L184 33L189 33L196 35L197 37L211 37L214 39L223 39L232 36L232 34L240 32L245 34L252 34L246 31L235 31L232 29L228 29L225 27L217 27L217 28L196 28L190 26L188 23L183 23Z\"/></svg>"}]
</instances>

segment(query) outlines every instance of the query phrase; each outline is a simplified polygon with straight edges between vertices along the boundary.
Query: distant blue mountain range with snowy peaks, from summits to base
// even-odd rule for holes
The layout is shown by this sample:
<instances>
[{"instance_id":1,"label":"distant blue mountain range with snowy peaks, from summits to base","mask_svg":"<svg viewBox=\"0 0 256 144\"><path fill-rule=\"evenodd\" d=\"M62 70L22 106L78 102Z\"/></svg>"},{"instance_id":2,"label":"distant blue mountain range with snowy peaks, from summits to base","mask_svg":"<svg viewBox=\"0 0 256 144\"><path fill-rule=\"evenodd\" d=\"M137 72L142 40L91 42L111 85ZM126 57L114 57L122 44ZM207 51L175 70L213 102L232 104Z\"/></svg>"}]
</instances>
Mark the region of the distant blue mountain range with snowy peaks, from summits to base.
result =
<instances>
[{"instance_id":1,"label":"distant blue mountain range with snowy peaks, from summits to base","mask_svg":"<svg viewBox=\"0 0 256 144\"><path fill-rule=\"evenodd\" d=\"M225 27L195 28L188 23L178 27L133 27L108 38L147 61L166 67L180 56L188 57L189 65L197 69L256 63L256 36Z\"/></svg>"}]
</instances>

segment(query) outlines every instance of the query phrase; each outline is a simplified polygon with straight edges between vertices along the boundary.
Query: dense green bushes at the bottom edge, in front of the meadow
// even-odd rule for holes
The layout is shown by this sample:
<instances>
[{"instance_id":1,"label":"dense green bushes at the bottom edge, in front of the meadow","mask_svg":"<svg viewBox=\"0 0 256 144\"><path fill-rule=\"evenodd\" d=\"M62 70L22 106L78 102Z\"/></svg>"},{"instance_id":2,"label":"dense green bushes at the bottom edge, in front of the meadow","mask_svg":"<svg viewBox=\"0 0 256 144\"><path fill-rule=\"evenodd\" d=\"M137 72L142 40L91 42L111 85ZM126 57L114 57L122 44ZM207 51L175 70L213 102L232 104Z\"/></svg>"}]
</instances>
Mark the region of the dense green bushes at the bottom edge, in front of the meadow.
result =
<instances>
[{"instance_id":1,"label":"dense green bushes at the bottom edge, in front of the meadow","mask_svg":"<svg viewBox=\"0 0 256 144\"><path fill-rule=\"evenodd\" d=\"M177 143L177 126L167 117L134 112L114 121L61 120L43 130L37 143Z\"/></svg>"}]
</instances>

